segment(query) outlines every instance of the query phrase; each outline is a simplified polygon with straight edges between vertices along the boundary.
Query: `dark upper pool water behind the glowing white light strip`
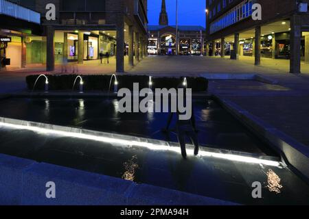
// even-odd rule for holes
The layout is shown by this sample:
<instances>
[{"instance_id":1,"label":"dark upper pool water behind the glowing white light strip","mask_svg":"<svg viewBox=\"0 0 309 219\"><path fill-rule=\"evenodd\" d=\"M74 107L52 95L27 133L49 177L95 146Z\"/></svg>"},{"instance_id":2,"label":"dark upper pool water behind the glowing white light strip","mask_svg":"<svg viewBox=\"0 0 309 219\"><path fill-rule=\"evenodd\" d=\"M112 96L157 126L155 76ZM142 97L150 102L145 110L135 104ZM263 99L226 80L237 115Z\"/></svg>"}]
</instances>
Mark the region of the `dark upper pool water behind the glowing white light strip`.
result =
<instances>
[{"instance_id":1,"label":"dark upper pool water behind the glowing white light strip","mask_svg":"<svg viewBox=\"0 0 309 219\"><path fill-rule=\"evenodd\" d=\"M233 116L211 99L194 100L200 144L217 149L275 155ZM0 101L0 116L39 123L80 127L95 131L177 142L176 131L161 132L167 113L119 113L117 99L5 99ZM154 106L155 107L155 104ZM174 116L171 128L175 128Z\"/></svg>"}]
</instances>

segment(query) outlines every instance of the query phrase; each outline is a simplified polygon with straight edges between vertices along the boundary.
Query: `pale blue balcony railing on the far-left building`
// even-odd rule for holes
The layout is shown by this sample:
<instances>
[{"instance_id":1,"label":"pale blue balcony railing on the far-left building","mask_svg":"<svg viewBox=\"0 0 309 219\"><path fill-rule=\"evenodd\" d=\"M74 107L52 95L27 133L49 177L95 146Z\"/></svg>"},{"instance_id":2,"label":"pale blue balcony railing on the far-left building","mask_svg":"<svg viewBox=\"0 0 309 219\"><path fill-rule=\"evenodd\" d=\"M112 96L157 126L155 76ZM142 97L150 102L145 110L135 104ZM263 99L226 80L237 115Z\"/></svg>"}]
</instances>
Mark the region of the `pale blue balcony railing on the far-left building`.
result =
<instances>
[{"instance_id":1,"label":"pale blue balcony railing on the far-left building","mask_svg":"<svg viewBox=\"0 0 309 219\"><path fill-rule=\"evenodd\" d=\"M41 24L41 14L10 1L0 0L0 14L19 18L24 21Z\"/></svg>"}]
</instances>

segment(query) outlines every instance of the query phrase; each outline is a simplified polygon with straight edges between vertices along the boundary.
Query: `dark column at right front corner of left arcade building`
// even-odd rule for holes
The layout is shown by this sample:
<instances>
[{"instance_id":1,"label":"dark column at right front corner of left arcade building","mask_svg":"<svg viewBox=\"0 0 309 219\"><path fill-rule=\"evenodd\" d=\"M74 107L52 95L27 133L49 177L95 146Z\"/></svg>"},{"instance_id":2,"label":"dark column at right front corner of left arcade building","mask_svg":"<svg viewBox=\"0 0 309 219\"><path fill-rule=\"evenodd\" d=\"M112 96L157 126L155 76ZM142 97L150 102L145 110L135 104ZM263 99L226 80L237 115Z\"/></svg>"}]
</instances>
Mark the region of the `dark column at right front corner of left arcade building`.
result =
<instances>
[{"instance_id":1,"label":"dark column at right front corner of left arcade building","mask_svg":"<svg viewBox=\"0 0 309 219\"><path fill-rule=\"evenodd\" d=\"M124 22L117 27L116 72L124 73Z\"/></svg>"}]
</instances>

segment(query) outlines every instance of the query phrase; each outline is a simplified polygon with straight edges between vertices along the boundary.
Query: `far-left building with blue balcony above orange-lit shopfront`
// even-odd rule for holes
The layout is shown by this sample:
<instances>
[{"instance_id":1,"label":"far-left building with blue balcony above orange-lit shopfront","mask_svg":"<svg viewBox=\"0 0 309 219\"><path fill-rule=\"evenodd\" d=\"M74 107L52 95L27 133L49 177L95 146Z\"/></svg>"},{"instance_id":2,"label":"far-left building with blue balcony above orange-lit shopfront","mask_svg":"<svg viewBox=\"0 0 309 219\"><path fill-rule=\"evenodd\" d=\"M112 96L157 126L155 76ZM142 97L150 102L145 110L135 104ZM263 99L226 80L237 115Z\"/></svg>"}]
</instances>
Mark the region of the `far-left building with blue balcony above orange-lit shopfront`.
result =
<instances>
[{"instance_id":1,"label":"far-left building with blue balcony above orange-lit shopfront","mask_svg":"<svg viewBox=\"0 0 309 219\"><path fill-rule=\"evenodd\" d=\"M41 36L40 14L31 8L0 0L0 70L6 66L22 68L32 62L35 53L31 49L27 51L26 47L27 39L34 36ZM43 61L40 54L36 59Z\"/></svg>"}]
</instances>

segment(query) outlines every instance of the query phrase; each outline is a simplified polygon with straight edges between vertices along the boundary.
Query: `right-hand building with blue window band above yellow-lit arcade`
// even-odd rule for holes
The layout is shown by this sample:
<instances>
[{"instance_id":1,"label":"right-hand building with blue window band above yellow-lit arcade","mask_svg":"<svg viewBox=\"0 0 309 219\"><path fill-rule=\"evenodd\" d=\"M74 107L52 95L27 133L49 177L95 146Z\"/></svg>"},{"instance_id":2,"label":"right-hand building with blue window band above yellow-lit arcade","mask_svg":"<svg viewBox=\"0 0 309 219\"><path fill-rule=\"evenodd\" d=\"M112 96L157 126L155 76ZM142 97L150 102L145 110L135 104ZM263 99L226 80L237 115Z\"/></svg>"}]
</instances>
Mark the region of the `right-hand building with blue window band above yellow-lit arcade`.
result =
<instances>
[{"instance_id":1,"label":"right-hand building with blue window band above yellow-lit arcade","mask_svg":"<svg viewBox=\"0 0 309 219\"><path fill-rule=\"evenodd\" d=\"M253 19L261 6L260 19ZM208 0L207 54L289 59L290 73L309 63L309 13L307 0ZM258 9L258 10L256 10ZM258 18L258 17L257 17Z\"/></svg>"}]
</instances>

